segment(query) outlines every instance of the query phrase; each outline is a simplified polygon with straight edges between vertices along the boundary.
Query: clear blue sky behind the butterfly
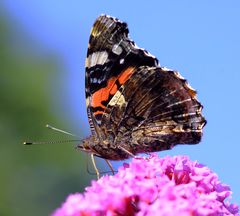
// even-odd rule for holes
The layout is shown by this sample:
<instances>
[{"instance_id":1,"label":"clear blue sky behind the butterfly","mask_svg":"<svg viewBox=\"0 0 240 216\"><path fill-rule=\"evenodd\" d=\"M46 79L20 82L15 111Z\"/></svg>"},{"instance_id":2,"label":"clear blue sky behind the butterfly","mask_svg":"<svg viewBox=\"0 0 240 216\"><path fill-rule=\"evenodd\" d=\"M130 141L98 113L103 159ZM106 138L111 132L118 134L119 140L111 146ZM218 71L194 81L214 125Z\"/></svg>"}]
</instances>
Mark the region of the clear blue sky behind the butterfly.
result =
<instances>
[{"instance_id":1,"label":"clear blue sky behind the butterfly","mask_svg":"<svg viewBox=\"0 0 240 216\"><path fill-rule=\"evenodd\" d=\"M5 1L31 40L61 56L61 86L52 84L53 109L74 132L89 134L84 62L91 26L104 13L126 21L130 37L178 70L197 89L208 121L203 141L160 155L187 154L232 188L240 204L239 1Z\"/></svg>"}]
</instances>

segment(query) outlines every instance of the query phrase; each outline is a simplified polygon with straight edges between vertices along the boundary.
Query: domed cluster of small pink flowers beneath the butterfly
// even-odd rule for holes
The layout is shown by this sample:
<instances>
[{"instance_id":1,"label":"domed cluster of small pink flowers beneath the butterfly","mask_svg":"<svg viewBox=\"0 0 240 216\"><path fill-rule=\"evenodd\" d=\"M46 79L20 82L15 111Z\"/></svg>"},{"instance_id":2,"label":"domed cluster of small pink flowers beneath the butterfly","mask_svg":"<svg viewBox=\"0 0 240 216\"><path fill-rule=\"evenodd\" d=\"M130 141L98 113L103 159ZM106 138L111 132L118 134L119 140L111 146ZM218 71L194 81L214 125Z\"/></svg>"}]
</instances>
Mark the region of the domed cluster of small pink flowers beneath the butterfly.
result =
<instances>
[{"instance_id":1,"label":"domed cluster of small pink flowers beneath the butterfly","mask_svg":"<svg viewBox=\"0 0 240 216\"><path fill-rule=\"evenodd\" d=\"M52 216L239 215L226 198L230 188L186 156L135 158L114 176L103 176L84 194L69 195Z\"/></svg>"}]
</instances>

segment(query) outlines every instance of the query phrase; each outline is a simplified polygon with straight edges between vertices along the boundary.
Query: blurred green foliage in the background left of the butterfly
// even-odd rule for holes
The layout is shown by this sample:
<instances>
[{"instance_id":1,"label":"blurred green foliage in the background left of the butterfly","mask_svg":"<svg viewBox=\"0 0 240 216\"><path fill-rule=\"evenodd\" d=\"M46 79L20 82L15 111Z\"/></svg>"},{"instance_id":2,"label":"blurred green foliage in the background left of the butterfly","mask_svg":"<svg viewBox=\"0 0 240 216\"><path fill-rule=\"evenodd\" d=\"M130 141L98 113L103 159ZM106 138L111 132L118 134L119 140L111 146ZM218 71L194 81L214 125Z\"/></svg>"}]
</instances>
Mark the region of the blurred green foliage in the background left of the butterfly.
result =
<instances>
[{"instance_id":1,"label":"blurred green foliage in the background left of the butterfly","mask_svg":"<svg viewBox=\"0 0 240 216\"><path fill-rule=\"evenodd\" d=\"M49 215L93 178L86 172L86 155L70 144L21 144L27 138L64 139L44 128L46 123L69 128L53 108L58 62L0 7L0 215Z\"/></svg>"}]
</instances>

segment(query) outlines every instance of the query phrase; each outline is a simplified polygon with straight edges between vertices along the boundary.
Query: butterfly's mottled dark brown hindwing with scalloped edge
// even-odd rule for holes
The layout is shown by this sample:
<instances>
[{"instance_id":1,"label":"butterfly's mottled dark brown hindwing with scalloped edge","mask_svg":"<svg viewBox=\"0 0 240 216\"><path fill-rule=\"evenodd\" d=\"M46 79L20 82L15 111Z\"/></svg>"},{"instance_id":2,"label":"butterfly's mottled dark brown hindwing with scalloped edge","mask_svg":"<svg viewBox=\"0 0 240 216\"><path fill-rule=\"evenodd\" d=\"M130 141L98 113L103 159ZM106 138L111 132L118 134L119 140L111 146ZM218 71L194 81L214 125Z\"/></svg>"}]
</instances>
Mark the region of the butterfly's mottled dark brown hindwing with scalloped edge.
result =
<instances>
[{"instance_id":1,"label":"butterfly's mottled dark brown hindwing with scalloped edge","mask_svg":"<svg viewBox=\"0 0 240 216\"><path fill-rule=\"evenodd\" d=\"M114 135L116 145L133 154L194 144L202 137L202 106L196 92L175 71L140 67L117 98L104 114L102 127Z\"/></svg>"}]
</instances>

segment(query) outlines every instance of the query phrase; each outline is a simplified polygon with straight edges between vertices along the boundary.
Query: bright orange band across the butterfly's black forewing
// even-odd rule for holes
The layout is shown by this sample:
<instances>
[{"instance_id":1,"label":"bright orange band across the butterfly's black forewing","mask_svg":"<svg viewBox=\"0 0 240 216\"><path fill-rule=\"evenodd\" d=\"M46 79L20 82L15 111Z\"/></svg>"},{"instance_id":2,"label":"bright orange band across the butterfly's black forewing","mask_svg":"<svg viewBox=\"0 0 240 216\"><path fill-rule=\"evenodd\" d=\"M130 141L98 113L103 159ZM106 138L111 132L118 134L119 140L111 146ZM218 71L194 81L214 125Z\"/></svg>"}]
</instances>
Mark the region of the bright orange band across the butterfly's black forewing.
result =
<instances>
[{"instance_id":1,"label":"bright orange band across the butterfly's black forewing","mask_svg":"<svg viewBox=\"0 0 240 216\"><path fill-rule=\"evenodd\" d=\"M131 76L134 71L134 67L128 67L126 70L122 71L117 77L112 77L108 80L107 86L99 89L92 95L92 107L101 107L105 109L106 107L102 104L102 101L107 101L109 99L110 94L114 95L118 87L115 84L118 80L121 85L123 85ZM101 113L100 113L101 112ZM94 115L103 114L103 111L96 111Z\"/></svg>"}]
</instances>

